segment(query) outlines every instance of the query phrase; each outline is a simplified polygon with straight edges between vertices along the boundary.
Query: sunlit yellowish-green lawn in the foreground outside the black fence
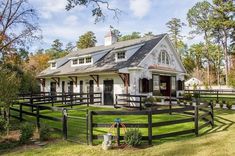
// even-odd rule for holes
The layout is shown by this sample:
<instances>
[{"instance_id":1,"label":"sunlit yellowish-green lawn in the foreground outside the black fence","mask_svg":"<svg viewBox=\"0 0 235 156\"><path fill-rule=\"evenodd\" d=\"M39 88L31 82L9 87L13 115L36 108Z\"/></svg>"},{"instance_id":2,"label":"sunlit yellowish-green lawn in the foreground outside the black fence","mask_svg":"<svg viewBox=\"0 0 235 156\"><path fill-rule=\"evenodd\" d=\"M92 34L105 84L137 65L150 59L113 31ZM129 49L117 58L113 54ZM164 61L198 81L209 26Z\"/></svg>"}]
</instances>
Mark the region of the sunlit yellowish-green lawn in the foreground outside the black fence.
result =
<instances>
[{"instance_id":1,"label":"sunlit yellowish-green lawn in the foreground outside the black fence","mask_svg":"<svg viewBox=\"0 0 235 156\"><path fill-rule=\"evenodd\" d=\"M95 109L95 108L91 108ZM102 108L100 108L102 109ZM103 151L101 145L87 146L77 143L58 141L45 147L24 146L10 150L5 155L235 155L235 111L215 110L215 128L207 129L199 137L177 137L154 142L152 147L140 149L125 148ZM169 119L168 117L162 117ZM97 119L101 120L101 119ZM123 121L129 120L124 118ZM131 118L135 122L146 119ZM157 116L154 120L161 120ZM112 122L111 118L105 121ZM189 126L189 125L187 125ZM182 126L184 127L184 126ZM178 129L179 127L177 127ZM174 128L173 128L174 129ZM160 132L161 130L159 130Z\"/></svg>"}]
</instances>

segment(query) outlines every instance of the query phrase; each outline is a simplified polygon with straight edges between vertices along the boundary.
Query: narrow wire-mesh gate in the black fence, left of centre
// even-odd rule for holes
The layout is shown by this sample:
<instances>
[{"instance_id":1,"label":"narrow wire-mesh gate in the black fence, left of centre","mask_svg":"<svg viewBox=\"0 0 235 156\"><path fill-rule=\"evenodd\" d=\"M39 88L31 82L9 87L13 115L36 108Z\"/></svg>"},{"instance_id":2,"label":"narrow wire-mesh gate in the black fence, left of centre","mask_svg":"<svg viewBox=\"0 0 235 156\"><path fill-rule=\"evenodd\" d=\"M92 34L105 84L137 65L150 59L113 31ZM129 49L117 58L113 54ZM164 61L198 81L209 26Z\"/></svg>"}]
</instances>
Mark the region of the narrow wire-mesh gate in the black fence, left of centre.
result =
<instances>
[{"instance_id":1,"label":"narrow wire-mesh gate in the black fence, left of centre","mask_svg":"<svg viewBox=\"0 0 235 156\"><path fill-rule=\"evenodd\" d=\"M63 133L66 140L88 144L88 110L64 108Z\"/></svg>"}]
</instances>

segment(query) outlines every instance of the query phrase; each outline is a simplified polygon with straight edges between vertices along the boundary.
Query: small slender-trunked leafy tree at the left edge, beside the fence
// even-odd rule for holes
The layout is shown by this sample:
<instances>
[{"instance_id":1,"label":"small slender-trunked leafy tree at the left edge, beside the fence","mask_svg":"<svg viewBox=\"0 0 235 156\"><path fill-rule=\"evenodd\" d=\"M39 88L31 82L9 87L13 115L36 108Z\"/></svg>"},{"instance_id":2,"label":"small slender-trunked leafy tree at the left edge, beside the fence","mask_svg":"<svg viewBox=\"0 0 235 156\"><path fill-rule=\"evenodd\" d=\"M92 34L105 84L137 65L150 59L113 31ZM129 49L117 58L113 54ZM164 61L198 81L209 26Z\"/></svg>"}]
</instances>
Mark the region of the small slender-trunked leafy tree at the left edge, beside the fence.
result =
<instances>
[{"instance_id":1,"label":"small slender-trunked leafy tree at the left edge, beside the fence","mask_svg":"<svg viewBox=\"0 0 235 156\"><path fill-rule=\"evenodd\" d=\"M14 72L0 67L0 107L6 112L7 119L7 135L9 134L9 112L10 105L17 97L19 90L19 79Z\"/></svg>"}]
</instances>

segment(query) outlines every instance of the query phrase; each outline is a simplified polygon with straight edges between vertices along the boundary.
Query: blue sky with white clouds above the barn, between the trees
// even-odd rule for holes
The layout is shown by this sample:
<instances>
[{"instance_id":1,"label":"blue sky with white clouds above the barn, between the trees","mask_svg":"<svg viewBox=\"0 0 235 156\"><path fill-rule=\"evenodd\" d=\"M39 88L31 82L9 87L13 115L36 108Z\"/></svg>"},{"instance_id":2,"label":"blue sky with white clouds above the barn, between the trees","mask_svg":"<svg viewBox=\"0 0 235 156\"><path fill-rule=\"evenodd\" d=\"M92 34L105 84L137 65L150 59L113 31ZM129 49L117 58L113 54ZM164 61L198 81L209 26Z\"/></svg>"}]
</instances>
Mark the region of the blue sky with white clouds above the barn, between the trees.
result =
<instances>
[{"instance_id":1,"label":"blue sky with white clouds above the barn, between the trees","mask_svg":"<svg viewBox=\"0 0 235 156\"><path fill-rule=\"evenodd\" d=\"M52 41L60 39L64 45L78 40L87 31L93 31L97 37L97 45L103 44L104 35L112 25L122 34L133 31L142 34L152 31L154 34L166 33L166 23L173 17L180 18L187 24L186 14L196 2L201 0L110 0L113 8L122 13L119 21L113 20L112 12L105 12L104 22L94 24L91 8L76 7L66 11L67 0L29 0L39 14L39 25L43 39L33 43L31 51L49 48ZM187 36L190 28L185 27L182 34ZM201 41L201 37L184 41L188 44Z\"/></svg>"}]
</instances>

